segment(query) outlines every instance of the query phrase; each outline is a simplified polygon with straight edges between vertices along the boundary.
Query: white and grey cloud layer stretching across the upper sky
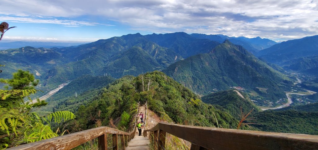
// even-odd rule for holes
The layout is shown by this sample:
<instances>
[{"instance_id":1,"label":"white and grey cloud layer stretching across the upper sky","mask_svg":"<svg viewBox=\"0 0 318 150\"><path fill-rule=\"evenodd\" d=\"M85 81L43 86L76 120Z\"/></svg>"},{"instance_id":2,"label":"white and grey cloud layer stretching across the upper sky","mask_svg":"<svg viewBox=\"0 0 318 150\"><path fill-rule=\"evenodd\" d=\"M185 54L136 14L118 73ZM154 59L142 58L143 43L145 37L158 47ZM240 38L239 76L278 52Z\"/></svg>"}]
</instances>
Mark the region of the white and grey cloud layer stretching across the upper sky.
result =
<instances>
[{"instance_id":1,"label":"white and grey cloud layer stretching across the upper sky","mask_svg":"<svg viewBox=\"0 0 318 150\"><path fill-rule=\"evenodd\" d=\"M317 0L4 0L1 4L0 14L20 16L11 18L17 22L65 26L100 23L54 20L87 15L158 33L184 31L285 40L318 34ZM38 18L43 16L45 19Z\"/></svg>"}]
</instances>

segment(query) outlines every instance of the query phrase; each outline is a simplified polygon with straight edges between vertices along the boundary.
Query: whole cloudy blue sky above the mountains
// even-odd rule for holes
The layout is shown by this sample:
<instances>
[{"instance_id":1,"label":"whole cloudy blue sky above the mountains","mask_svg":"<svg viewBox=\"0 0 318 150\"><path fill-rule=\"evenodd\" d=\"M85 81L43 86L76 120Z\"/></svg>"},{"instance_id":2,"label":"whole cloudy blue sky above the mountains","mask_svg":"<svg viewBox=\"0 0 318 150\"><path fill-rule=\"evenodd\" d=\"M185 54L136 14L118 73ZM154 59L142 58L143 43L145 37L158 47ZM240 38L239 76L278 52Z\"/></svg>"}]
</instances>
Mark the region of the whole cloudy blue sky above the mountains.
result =
<instances>
[{"instance_id":1,"label":"whole cloudy blue sky above the mountains","mask_svg":"<svg viewBox=\"0 0 318 150\"><path fill-rule=\"evenodd\" d=\"M281 42L318 34L318 0L1 0L2 41L92 42L174 32Z\"/></svg>"}]
</instances>

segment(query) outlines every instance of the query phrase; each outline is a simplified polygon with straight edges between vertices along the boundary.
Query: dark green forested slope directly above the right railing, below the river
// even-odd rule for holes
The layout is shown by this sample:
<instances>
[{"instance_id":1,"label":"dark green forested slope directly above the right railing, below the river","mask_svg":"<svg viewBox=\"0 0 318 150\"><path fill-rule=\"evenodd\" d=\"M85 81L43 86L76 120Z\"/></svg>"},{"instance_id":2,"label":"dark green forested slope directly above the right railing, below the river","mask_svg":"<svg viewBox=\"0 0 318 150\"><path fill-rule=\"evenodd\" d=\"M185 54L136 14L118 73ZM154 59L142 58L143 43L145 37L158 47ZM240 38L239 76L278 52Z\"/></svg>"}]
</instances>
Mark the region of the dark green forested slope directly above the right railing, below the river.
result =
<instances>
[{"instance_id":1,"label":"dark green forested slope directly above the right railing, below the river","mask_svg":"<svg viewBox=\"0 0 318 150\"><path fill-rule=\"evenodd\" d=\"M252 126L268 132L317 135L317 104L266 110L252 114L251 117L255 117L255 122L258 123L252 124Z\"/></svg>"}]
</instances>

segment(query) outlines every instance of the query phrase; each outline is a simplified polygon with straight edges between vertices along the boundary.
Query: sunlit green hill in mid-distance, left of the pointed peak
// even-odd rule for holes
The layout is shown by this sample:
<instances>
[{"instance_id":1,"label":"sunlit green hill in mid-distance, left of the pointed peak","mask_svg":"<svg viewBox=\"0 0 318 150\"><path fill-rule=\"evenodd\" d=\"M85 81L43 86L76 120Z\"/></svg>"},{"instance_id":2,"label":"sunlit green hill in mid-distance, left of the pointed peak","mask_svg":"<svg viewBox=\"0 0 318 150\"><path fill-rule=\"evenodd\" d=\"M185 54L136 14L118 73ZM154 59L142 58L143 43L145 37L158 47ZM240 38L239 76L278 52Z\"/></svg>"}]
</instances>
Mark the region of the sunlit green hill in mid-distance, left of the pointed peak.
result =
<instances>
[{"instance_id":1,"label":"sunlit green hill in mid-distance, left of the pointed peak","mask_svg":"<svg viewBox=\"0 0 318 150\"><path fill-rule=\"evenodd\" d=\"M124 75L136 76L143 72L162 70L176 60L180 60L179 55L169 53L167 48L159 47L154 43L143 44L142 47L145 49L134 46L112 56L105 63L101 73L106 72L115 78L120 78Z\"/></svg>"}]
</instances>

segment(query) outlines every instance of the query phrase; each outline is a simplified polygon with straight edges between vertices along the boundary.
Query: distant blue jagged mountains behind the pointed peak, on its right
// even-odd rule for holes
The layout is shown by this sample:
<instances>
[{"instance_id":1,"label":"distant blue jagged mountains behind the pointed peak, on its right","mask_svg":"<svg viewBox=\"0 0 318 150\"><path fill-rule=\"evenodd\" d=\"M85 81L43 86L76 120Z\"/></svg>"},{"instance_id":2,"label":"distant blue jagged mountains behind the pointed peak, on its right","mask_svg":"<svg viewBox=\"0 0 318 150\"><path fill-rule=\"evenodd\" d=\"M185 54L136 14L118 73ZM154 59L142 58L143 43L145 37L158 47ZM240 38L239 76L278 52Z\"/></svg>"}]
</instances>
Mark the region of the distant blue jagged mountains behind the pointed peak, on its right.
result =
<instances>
[{"instance_id":1,"label":"distant blue jagged mountains behind the pointed peak, on its right","mask_svg":"<svg viewBox=\"0 0 318 150\"><path fill-rule=\"evenodd\" d=\"M275 41L272 41L269 39L262 39L260 37L255 37L255 38L229 37L222 34L206 35L206 34L197 34L197 33L190 34L190 35L198 39L209 39L211 41L217 41L220 43L222 43L225 40L229 40L233 44L243 46L246 50L254 54L259 52L262 49L265 49L277 44Z\"/></svg>"}]
</instances>

